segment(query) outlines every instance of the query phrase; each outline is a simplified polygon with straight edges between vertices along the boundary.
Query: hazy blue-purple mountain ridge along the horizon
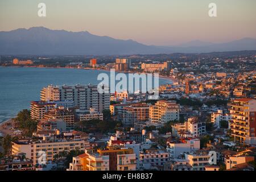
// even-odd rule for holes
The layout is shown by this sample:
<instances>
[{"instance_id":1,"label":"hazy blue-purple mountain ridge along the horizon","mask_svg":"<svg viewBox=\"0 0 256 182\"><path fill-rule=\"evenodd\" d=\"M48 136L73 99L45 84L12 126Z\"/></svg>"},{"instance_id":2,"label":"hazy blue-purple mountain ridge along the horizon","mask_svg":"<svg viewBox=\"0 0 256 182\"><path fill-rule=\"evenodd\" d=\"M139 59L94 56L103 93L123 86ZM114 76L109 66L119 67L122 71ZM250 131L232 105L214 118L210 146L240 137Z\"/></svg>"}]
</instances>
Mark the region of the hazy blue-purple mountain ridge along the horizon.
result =
<instances>
[{"instance_id":1,"label":"hazy blue-purple mountain ridge along the horizon","mask_svg":"<svg viewBox=\"0 0 256 182\"><path fill-rule=\"evenodd\" d=\"M220 44L194 40L179 46L147 46L134 40L93 35L88 31L71 32L45 27L0 31L1 55L133 55L242 50L256 50L256 39L244 38Z\"/></svg>"}]
</instances>

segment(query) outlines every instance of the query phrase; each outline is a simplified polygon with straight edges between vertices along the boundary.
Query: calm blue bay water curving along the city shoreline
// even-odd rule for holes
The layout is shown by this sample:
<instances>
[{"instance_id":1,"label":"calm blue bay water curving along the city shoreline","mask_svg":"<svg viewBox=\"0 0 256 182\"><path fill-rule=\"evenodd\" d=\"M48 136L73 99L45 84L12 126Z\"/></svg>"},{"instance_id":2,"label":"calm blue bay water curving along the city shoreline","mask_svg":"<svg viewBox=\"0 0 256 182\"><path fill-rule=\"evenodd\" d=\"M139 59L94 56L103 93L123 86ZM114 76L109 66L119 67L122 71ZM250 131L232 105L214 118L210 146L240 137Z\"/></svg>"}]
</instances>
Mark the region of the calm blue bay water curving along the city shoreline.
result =
<instances>
[{"instance_id":1,"label":"calm blue bay water curving along the city shoreline","mask_svg":"<svg viewBox=\"0 0 256 182\"><path fill-rule=\"evenodd\" d=\"M40 99L44 86L98 84L99 73L109 74L86 69L0 67L0 123L29 109L30 101ZM168 83L171 81L159 79L159 85Z\"/></svg>"}]
</instances>

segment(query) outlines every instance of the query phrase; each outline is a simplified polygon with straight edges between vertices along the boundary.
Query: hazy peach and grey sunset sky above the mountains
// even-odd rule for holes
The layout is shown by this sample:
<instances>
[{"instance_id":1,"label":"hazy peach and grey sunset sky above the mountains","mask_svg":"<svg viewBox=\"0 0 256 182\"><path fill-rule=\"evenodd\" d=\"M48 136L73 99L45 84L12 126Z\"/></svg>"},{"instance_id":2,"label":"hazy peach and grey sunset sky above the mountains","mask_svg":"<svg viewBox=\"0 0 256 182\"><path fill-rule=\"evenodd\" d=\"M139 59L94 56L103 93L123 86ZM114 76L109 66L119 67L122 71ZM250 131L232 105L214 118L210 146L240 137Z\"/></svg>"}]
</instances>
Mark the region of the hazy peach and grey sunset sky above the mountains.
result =
<instances>
[{"instance_id":1,"label":"hazy peach and grey sunset sky above the mountains","mask_svg":"<svg viewBox=\"0 0 256 182\"><path fill-rule=\"evenodd\" d=\"M209 3L217 17L209 17ZM255 7L255 0L0 0L0 31L43 26L156 46L222 43L256 38Z\"/></svg>"}]
</instances>

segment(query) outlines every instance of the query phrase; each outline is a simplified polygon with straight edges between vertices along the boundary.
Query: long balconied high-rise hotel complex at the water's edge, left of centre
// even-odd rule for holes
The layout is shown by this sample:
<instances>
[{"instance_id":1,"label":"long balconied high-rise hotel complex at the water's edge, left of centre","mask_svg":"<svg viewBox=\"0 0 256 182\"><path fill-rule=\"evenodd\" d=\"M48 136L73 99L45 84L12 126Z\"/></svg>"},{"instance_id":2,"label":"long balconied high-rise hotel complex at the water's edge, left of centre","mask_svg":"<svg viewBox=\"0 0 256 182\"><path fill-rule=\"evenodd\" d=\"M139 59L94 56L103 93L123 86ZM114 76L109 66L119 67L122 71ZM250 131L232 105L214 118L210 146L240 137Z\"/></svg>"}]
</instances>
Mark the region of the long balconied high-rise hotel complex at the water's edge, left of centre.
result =
<instances>
[{"instance_id":1,"label":"long balconied high-rise hotel complex at the water's edge, left of centre","mask_svg":"<svg viewBox=\"0 0 256 182\"><path fill-rule=\"evenodd\" d=\"M49 85L41 90L40 101L31 102L31 118L41 121L46 119L46 113L58 107L62 111L69 108L80 111L93 109L97 113L109 109L110 94L98 93L96 85Z\"/></svg>"}]
</instances>

